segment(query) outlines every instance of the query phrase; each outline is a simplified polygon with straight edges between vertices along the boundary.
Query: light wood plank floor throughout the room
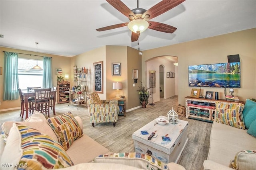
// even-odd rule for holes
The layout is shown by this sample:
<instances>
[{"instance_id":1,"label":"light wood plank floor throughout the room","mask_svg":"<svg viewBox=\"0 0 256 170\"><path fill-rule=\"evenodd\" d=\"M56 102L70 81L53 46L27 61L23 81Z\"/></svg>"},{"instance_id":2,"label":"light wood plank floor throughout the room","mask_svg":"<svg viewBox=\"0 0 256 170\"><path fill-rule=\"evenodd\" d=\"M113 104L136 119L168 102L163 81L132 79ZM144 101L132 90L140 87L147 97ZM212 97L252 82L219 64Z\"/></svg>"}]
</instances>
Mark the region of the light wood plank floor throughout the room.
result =
<instances>
[{"instance_id":1,"label":"light wood plank floor throughout the room","mask_svg":"<svg viewBox=\"0 0 256 170\"><path fill-rule=\"evenodd\" d=\"M71 111L74 116L80 116L83 120L84 133L92 139L108 148L111 152L134 152L132 133L160 115L166 116L167 112L178 107L178 96L168 99L161 98L155 106L146 106L126 113L126 117L119 116L116 127L112 123L96 123L95 127L89 123L87 107L68 104L56 104L56 115ZM24 121L19 117L20 110L0 113L0 124L5 121ZM50 117L53 114L50 113ZM24 116L25 117L25 116ZM46 116L47 118L48 116ZM188 121L188 143L178 161L187 170L203 170L203 162L207 159L210 145L210 131L212 123L186 119L179 116L179 119Z\"/></svg>"}]
</instances>

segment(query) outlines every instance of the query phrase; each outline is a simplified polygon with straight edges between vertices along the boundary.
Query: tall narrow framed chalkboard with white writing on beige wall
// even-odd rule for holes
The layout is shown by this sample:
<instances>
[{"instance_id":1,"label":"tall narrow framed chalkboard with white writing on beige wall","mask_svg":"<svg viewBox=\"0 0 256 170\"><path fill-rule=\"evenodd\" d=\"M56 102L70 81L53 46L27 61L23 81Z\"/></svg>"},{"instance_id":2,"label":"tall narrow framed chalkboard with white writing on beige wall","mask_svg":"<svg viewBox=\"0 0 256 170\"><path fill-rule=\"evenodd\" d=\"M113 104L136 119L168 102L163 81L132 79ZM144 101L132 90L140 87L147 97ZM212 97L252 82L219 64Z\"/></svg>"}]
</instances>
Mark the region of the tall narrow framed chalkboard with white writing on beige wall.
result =
<instances>
[{"instance_id":1,"label":"tall narrow framed chalkboard with white writing on beige wall","mask_svg":"<svg viewBox=\"0 0 256 170\"><path fill-rule=\"evenodd\" d=\"M93 63L94 67L94 92L103 93L103 61Z\"/></svg>"}]
</instances>

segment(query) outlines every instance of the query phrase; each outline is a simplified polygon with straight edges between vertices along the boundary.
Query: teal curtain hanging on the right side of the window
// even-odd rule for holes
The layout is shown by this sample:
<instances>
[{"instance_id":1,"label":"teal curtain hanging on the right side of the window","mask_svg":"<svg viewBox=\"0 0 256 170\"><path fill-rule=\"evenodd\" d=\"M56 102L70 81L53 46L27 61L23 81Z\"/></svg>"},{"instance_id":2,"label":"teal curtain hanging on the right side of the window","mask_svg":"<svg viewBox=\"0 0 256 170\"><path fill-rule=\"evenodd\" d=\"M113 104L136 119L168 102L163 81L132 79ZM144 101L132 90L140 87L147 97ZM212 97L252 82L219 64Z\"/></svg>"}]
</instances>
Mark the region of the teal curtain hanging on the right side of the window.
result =
<instances>
[{"instance_id":1,"label":"teal curtain hanging on the right side of the window","mask_svg":"<svg viewBox=\"0 0 256 170\"><path fill-rule=\"evenodd\" d=\"M43 88L52 88L52 58L43 59Z\"/></svg>"}]
</instances>

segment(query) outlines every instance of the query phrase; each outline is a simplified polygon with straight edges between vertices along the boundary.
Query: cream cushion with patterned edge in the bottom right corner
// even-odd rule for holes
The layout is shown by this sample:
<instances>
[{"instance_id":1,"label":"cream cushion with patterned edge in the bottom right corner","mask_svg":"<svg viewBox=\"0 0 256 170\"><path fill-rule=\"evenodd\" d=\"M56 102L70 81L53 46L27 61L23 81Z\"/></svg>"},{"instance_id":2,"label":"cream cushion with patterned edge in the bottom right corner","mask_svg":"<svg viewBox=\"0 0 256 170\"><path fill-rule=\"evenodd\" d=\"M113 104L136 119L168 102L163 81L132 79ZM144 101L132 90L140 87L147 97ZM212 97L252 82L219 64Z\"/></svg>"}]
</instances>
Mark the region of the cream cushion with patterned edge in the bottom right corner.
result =
<instances>
[{"instance_id":1,"label":"cream cushion with patterned edge in the bottom right corner","mask_svg":"<svg viewBox=\"0 0 256 170\"><path fill-rule=\"evenodd\" d=\"M236 170L252 170L256 167L256 150L242 150L230 161L230 168Z\"/></svg>"}]
</instances>

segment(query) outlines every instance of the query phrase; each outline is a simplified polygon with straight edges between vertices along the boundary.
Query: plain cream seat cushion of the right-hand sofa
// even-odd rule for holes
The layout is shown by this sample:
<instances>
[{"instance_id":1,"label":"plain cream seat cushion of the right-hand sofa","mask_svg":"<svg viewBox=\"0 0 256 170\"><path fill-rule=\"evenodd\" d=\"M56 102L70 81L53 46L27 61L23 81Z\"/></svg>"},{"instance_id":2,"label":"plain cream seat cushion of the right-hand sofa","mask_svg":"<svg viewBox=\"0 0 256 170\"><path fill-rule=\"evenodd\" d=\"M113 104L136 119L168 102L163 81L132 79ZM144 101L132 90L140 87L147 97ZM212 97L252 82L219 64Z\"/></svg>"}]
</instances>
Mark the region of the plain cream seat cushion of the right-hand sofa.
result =
<instances>
[{"instance_id":1,"label":"plain cream seat cushion of the right-hand sofa","mask_svg":"<svg viewBox=\"0 0 256 170\"><path fill-rule=\"evenodd\" d=\"M212 123L208 160L228 167L237 152L255 148L256 138L246 131L216 121Z\"/></svg>"}]
</instances>

